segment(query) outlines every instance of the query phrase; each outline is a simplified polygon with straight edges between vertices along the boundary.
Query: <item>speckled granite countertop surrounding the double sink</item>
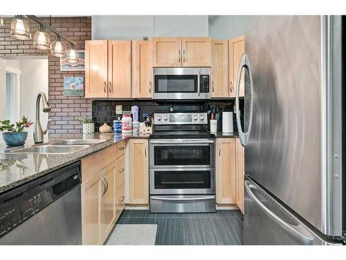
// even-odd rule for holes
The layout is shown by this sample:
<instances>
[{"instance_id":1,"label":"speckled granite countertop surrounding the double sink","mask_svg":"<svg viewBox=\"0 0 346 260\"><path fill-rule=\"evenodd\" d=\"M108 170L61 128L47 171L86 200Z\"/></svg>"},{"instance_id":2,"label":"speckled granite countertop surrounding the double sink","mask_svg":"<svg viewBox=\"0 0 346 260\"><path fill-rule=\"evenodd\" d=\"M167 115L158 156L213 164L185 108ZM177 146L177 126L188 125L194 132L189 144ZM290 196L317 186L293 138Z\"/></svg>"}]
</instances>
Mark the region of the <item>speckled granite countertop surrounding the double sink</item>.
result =
<instances>
[{"instance_id":1,"label":"speckled granite countertop surrounding the double sink","mask_svg":"<svg viewBox=\"0 0 346 260\"><path fill-rule=\"evenodd\" d=\"M60 138L60 139L107 139L102 144L91 145L89 148L76 153L67 155L43 155L43 154L14 154L8 153L5 144L0 144L0 193L17 187L21 184L34 180L37 177L55 171L73 162L77 162L82 157L91 155L102 150L112 144L129 138L149 138L148 134L89 134L80 135L76 138ZM49 139L49 142L59 139ZM26 146L33 144L32 140L26 142ZM17 147L18 148L18 147ZM17 149L16 148L16 149ZM12 148L13 149L13 148Z\"/></svg>"}]
</instances>

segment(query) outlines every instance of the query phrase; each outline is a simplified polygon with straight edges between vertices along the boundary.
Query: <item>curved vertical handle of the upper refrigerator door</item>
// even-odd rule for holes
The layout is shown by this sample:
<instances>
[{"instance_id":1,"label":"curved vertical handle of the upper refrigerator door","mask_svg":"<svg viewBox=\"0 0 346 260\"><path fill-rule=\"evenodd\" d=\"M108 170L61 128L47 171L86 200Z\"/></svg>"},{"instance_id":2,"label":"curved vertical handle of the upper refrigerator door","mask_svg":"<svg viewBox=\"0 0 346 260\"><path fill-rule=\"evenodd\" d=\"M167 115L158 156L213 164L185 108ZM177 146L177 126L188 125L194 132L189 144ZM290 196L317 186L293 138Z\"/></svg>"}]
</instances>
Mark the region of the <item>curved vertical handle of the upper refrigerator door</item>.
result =
<instances>
[{"instance_id":1,"label":"curved vertical handle of the upper refrigerator door","mask_svg":"<svg viewBox=\"0 0 346 260\"><path fill-rule=\"evenodd\" d=\"M250 80L250 114L248 116L248 130L243 132L242 123L240 121L240 113L239 113L239 91L240 91L240 79L242 77L242 69L245 68L248 70L248 76ZM244 86L245 87L245 86ZM239 139L242 146L246 146L248 144L248 135L251 130L251 123L253 121L253 77L250 69L250 62L248 60L248 55L244 53L240 58L240 64L238 69L237 76L237 85L235 87L235 116L237 118L237 128L239 132Z\"/></svg>"}]
</instances>

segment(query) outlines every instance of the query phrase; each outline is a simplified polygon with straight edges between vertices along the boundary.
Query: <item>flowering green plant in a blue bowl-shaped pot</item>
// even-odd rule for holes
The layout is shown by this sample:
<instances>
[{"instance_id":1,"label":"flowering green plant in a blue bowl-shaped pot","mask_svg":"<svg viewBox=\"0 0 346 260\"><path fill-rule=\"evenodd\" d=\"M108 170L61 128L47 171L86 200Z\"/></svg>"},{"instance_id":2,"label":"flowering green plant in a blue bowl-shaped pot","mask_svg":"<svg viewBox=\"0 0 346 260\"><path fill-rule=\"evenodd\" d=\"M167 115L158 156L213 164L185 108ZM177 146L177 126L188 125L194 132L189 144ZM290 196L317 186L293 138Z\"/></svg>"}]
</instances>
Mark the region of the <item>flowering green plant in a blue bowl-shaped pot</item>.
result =
<instances>
[{"instance_id":1,"label":"flowering green plant in a blue bowl-shaped pot","mask_svg":"<svg viewBox=\"0 0 346 260\"><path fill-rule=\"evenodd\" d=\"M33 125L32 121L28 121L26 116L23 116L16 123L10 123L10 120L0 121L0 131L6 131L2 133L3 141L7 146L22 146L24 145L28 132L24 131L24 128L29 128Z\"/></svg>"}]
</instances>

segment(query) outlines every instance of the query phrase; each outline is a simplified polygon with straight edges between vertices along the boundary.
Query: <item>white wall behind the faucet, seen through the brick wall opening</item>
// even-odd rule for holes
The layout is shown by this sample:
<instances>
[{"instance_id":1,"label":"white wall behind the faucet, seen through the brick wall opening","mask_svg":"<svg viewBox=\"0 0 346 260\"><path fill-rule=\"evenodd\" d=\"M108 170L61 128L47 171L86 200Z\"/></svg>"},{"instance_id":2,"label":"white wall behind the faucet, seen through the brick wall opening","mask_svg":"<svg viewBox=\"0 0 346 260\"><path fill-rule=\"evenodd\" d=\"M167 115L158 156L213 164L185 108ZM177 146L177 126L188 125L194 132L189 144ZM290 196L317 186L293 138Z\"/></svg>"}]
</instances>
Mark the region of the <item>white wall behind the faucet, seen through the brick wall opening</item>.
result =
<instances>
[{"instance_id":1,"label":"white wall behind the faucet, seen through the brick wall opening","mask_svg":"<svg viewBox=\"0 0 346 260\"><path fill-rule=\"evenodd\" d=\"M48 59L21 60L21 115L25 115L34 123L36 98L40 91L48 98ZM48 113L42 112L42 101L40 101L39 118L42 128L45 129ZM29 132L28 139L33 139L34 125L26 131Z\"/></svg>"}]
</instances>

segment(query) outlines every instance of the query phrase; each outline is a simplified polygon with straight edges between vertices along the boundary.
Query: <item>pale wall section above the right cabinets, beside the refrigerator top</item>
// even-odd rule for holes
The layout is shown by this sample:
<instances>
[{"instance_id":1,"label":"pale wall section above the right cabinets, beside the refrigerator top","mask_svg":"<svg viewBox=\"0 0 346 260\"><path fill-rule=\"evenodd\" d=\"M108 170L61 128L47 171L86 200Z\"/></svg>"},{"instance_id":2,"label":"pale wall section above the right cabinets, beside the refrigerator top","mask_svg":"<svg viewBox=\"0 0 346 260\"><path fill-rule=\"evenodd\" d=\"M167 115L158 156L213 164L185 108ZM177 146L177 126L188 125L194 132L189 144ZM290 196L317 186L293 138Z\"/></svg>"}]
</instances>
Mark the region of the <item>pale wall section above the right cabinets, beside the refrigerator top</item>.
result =
<instances>
[{"instance_id":1,"label":"pale wall section above the right cabinets, beside the refrigerator top","mask_svg":"<svg viewBox=\"0 0 346 260\"><path fill-rule=\"evenodd\" d=\"M209 15L209 36L213 39L230 39L244 35L251 15Z\"/></svg>"}]
</instances>

